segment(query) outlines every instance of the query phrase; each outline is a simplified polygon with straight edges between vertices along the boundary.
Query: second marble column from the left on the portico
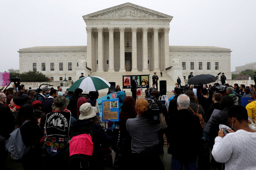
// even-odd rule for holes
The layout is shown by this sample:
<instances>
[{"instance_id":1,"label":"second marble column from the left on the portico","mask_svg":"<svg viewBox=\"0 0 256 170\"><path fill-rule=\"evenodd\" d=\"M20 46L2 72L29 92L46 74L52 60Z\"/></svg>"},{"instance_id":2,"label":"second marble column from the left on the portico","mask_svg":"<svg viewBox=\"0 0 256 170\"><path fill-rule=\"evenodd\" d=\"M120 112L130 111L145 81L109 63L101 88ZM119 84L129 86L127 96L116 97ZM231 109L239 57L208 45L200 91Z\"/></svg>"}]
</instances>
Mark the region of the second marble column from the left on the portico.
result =
<instances>
[{"instance_id":1,"label":"second marble column from the left on the portico","mask_svg":"<svg viewBox=\"0 0 256 170\"><path fill-rule=\"evenodd\" d=\"M98 70L103 71L103 28L97 28L98 31Z\"/></svg>"}]
</instances>

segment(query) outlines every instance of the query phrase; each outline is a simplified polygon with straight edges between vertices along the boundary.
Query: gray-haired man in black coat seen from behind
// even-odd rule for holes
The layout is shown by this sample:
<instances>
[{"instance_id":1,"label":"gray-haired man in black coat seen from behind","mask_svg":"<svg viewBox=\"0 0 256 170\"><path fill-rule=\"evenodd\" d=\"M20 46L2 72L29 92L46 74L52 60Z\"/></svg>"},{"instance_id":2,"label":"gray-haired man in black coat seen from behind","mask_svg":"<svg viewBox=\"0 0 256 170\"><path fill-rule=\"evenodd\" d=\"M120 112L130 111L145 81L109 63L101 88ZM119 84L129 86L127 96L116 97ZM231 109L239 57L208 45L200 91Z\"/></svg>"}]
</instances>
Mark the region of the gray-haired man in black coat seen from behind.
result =
<instances>
[{"instance_id":1,"label":"gray-haired man in black coat seen from behind","mask_svg":"<svg viewBox=\"0 0 256 170\"><path fill-rule=\"evenodd\" d=\"M196 169L196 156L200 150L203 129L199 117L188 111L189 97L181 94L177 99L178 112L170 117L166 137L172 154L172 169ZM186 125L182 122L186 120ZM189 140L189 142L188 142Z\"/></svg>"}]
</instances>

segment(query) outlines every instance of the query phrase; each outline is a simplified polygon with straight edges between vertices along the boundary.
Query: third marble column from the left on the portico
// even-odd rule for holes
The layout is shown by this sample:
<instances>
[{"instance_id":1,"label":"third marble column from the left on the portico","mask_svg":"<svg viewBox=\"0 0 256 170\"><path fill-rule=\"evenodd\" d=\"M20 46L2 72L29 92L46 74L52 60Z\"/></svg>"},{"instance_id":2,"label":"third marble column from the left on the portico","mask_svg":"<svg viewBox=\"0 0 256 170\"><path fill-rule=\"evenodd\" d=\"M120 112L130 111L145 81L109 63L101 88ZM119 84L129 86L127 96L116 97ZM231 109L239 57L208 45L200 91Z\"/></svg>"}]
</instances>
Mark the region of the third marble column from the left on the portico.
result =
<instances>
[{"instance_id":1,"label":"third marble column from the left on the portico","mask_svg":"<svg viewBox=\"0 0 256 170\"><path fill-rule=\"evenodd\" d=\"M109 40L108 40L108 71L114 70L114 27L108 28Z\"/></svg>"}]
</instances>

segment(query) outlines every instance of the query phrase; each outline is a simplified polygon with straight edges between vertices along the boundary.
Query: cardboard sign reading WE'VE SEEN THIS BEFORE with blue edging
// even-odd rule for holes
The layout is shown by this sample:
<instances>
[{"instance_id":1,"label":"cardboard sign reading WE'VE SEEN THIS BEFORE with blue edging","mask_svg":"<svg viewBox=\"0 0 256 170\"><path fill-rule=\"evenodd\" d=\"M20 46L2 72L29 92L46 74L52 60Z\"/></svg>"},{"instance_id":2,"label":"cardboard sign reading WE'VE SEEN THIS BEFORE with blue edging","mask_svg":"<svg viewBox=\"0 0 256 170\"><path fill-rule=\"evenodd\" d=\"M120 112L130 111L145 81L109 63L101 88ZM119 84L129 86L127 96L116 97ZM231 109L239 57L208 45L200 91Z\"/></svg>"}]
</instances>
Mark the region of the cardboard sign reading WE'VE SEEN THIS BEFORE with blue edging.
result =
<instances>
[{"instance_id":1,"label":"cardboard sign reading WE'VE SEEN THIS BEFORE with blue edging","mask_svg":"<svg viewBox=\"0 0 256 170\"><path fill-rule=\"evenodd\" d=\"M119 121L119 98L102 101L102 122Z\"/></svg>"}]
</instances>

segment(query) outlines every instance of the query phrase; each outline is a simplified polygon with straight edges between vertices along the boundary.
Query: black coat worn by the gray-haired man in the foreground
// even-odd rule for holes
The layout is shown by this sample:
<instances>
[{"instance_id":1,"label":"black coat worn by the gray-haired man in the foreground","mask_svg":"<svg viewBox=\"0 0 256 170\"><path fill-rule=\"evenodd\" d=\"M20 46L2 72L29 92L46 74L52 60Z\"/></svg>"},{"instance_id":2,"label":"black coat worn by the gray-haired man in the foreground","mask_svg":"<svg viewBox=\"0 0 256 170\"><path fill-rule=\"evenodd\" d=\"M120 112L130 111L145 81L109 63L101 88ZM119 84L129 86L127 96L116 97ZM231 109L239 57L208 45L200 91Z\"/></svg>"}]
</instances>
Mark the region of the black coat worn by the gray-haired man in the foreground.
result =
<instances>
[{"instance_id":1,"label":"black coat worn by the gray-haired man in the foreground","mask_svg":"<svg viewBox=\"0 0 256 170\"><path fill-rule=\"evenodd\" d=\"M182 123L184 119L187 120L186 123ZM193 159L201 150L203 129L199 117L189 113L187 109L178 110L171 116L165 134L170 143L168 153L178 159Z\"/></svg>"}]
</instances>

